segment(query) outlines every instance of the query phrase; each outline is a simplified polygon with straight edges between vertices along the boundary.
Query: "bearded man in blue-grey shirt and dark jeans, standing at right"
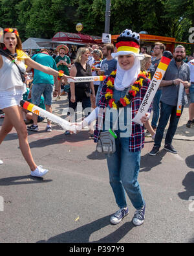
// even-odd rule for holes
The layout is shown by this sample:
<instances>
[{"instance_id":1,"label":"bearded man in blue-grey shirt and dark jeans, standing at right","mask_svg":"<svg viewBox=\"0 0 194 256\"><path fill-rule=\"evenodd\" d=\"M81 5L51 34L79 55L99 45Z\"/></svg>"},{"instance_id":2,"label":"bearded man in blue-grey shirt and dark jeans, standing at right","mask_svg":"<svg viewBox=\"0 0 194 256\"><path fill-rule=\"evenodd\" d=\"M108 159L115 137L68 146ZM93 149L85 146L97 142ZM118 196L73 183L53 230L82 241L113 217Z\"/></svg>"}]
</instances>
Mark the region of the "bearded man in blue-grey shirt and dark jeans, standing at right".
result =
<instances>
[{"instance_id":1,"label":"bearded man in blue-grey shirt and dark jeans, standing at right","mask_svg":"<svg viewBox=\"0 0 194 256\"><path fill-rule=\"evenodd\" d=\"M164 149L171 153L177 154L177 150L175 150L173 147L172 141L177 130L178 121L180 119L177 118L179 85L182 83L185 89L188 89L191 86L189 65L183 62L185 56L186 49L182 45L175 47L173 59L167 67L164 78L160 83L160 86L162 87L160 119L156 130L155 143L153 149L151 152L149 152L150 156L155 156L158 153L162 143L164 129L166 128L168 121L169 127L166 133ZM185 100L183 97L182 111L184 104Z\"/></svg>"}]
</instances>

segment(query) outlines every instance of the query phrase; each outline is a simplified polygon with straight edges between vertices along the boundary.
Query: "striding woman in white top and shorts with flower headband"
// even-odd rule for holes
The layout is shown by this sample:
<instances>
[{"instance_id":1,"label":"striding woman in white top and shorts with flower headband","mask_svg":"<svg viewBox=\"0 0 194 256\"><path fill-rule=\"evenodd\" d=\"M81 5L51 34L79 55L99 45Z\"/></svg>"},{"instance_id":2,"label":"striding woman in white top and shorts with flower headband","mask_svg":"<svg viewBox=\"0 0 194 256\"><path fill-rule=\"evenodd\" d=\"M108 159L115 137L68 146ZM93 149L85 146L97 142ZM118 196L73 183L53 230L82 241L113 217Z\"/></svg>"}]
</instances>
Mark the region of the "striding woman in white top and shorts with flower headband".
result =
<instances>
[{"instance_id":1,"label":"striding woman in white top and shorts with flower headband","mask_svg":"<svg viewBox=\"0 0 194 256\"><path fill-rule=\"evenodd\" d=\"M23 73L25 72L25 65L28 65L28 67L38 69L49 75L59 76L58 71L34 62L22 51L21 40L16 29L4 29L3 44L1 46L8 54L17 53L15 62ZM48 170L43 169L41 165L36 165L30 151L27 128L19 107L19 102L25 92L25 84L21 79L21 74L16 64L10 58L0 54L0 109L5 113L5 119L0 131L0 144L14 127L19 139L19 148L30 167L31 175L41 177ZM63 75L61 77L67 82L67 78L70 76ZM0 163L2 162L0 161Z\"/></svg>"}]
</instances>

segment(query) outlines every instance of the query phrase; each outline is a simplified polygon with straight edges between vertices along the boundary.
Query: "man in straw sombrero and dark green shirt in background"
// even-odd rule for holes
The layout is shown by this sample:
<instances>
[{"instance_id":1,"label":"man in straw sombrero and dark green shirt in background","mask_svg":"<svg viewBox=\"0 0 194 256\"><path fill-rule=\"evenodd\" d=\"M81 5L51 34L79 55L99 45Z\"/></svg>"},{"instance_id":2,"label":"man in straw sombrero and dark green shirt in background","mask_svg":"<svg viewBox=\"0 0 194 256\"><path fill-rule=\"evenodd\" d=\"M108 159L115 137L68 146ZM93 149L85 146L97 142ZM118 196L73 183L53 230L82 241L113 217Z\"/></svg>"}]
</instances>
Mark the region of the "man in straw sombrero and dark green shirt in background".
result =
<instances>
[{"instance_id":1,"label":"man in straw sombrero and dark green shirt in background","mask_svg":"<svg viewBox=\"0 0 194 256\"><path fill-rule=\"evenodd\" d=\"M54 59L58 67L58 71L62 70L65 75L69 76L69 69L71 67L71 64L69 56L66 55L69 52L69 48L67 47L67 45L58 45L58 47L56 47L56 51L59 52L59 56L56 56L56 58ZM57 99L60 99L61 82L62 80L60 80L59 82L59 91Z\"/></svg>"}]
</instances>

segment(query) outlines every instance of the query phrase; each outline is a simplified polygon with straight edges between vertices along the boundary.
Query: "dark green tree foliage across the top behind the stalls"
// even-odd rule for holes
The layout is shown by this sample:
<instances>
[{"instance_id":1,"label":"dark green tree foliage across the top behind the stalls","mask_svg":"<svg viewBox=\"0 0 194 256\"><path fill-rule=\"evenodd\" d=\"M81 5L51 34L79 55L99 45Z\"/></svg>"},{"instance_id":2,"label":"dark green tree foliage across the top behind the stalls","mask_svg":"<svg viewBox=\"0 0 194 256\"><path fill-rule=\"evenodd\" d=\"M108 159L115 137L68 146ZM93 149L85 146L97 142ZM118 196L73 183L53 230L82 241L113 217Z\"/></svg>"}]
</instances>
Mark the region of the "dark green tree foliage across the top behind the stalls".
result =
<instances>
[{"instance_id":1,"label":"dark green tree foliage across the top behind the stalls","mask_svg":"<svg viewBox=\"0 0 194 256\"><path fill-rule=\"evenodd\" d=\"M12 8L10 8L12 6ZM0 0L1 27L17 27L22 40L52 38L58 31L101 36L106 0ZM124 29L188 40L194 27L193 0L111 0L111 34Z\"/></svg>"}]
</instances>

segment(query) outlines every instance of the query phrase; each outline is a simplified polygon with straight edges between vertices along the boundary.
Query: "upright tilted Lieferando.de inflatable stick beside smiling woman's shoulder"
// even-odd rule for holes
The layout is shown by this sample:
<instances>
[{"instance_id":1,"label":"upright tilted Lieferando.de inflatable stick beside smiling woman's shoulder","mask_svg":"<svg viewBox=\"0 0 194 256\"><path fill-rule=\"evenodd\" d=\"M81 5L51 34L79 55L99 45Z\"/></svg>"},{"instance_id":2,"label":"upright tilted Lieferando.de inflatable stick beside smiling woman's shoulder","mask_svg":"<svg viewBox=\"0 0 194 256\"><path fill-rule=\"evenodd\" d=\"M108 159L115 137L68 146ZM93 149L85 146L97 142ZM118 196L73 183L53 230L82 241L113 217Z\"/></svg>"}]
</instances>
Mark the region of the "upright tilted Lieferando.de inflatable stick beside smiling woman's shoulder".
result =
<instances>
[{"instance_id":1,"label":"upright tilted Lieferando.de inflatable stick beside smiling woman's shoulder","mask_svg":"<svg viewBox=\"0 0 194 256\"><path fill-rule=\"evenodd\" d=\"M162 78L172 58L173 58L173 55L171 54L171 52L169 51L163 52L163 56L155 71L155 75L153 76L151 83L149 84L146 95L142 100L142 104L138 110L138 113L135 115L134 119L132 119L132 121L135 122L136 124L143 125L140 119L142 119L142 117L146 115L147 111L149 110L149 106L151 105L151 102L155 97L156 91L160 86L160 82L162 81Z\"/></svg>"}]
</instances>

